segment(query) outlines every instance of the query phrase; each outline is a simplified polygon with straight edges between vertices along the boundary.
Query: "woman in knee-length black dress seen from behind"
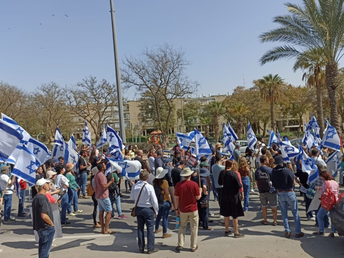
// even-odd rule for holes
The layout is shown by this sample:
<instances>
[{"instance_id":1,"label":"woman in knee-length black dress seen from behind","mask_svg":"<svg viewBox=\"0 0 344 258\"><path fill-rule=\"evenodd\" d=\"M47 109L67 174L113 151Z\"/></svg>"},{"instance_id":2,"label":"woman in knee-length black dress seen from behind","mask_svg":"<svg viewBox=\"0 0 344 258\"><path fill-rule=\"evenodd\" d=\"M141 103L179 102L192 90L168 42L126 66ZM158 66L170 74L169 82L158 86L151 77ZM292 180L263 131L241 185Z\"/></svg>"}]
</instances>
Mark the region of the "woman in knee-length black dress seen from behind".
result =
<instances>
[{"instance_id":1,"label":"woman in knee-length black dress seen from behind","mask_svg":"<svg viewBox=\"0 0 344 258\"><path fill-rule=\"evenodd\" d=\"M225 169L220 172L218 177L218 184L223 186L221 194L220 215L224 216L225 232L224 235L231 234L229 227L229 217L233 218L234 238L243 238L244 234L238 231L238 217L244 216L241 200L244 199L244 193L239 194L239 189L242 188L237 173L232 169L233 162L227 160Z\"/></svg>"}]
</instances>

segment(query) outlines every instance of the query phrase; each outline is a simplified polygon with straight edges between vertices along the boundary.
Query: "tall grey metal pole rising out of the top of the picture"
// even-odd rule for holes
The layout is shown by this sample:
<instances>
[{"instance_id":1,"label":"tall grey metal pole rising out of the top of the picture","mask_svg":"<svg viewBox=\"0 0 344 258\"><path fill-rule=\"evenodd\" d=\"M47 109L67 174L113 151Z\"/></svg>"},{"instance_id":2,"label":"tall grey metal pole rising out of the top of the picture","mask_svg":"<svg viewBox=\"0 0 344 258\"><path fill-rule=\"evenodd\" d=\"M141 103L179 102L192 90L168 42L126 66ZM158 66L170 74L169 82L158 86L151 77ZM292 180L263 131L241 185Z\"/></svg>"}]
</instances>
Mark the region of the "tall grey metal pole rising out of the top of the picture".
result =
<instances>
[{"instance_id":1,"label":"tall grey metal pole rising out of the top of the picture","mask_svg":"<svg viewBox=\"0 0 344 258\"><path fill-rule=\"evenodd\" d=\"M126 141L126 128L124 126L124 115L123 115L123 100L122 100L122 87L121 87L121 75L120 67L118 62L118 52L117 52L117 38L116 38L116 26L115 26L115 11L113 0L110 0L111 8L111 21L112 21L112 37L114 42L114 56L115 56L115 68L116 68L116 86L117 86L117 101L118 101L118 116L120 119L120 133L123 143Z\"/></svg>"}]
</instances>

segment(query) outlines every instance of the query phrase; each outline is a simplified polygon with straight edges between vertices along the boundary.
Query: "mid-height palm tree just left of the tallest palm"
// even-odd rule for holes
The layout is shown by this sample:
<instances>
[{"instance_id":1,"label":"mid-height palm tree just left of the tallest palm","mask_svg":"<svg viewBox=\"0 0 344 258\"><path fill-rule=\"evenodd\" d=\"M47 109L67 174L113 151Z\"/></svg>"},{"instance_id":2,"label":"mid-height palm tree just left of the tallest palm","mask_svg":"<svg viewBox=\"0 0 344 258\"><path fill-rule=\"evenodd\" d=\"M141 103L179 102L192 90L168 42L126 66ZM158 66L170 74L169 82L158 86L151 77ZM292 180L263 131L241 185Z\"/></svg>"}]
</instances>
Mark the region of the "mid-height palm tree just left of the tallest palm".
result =
<instances>
[{"instance_id":1,"label":"mid-height palm tree just left of the tallest palm","mask_svg":"<svg viewBox=\"0 0 344 258\"><path fill-rule=\"evenodd\" d=\"M317 122L320 127L320 136L323 137L324 112L323 112L323 87L326 85L325 76L326 59L324 58L323 49L316 48L301 53L294 64L293 70L308 70L304 73L302 80L307 78L307 84L316 88L317 91ZM300 125L301 126L301 125Z\"/></svg>"}]
</instances>

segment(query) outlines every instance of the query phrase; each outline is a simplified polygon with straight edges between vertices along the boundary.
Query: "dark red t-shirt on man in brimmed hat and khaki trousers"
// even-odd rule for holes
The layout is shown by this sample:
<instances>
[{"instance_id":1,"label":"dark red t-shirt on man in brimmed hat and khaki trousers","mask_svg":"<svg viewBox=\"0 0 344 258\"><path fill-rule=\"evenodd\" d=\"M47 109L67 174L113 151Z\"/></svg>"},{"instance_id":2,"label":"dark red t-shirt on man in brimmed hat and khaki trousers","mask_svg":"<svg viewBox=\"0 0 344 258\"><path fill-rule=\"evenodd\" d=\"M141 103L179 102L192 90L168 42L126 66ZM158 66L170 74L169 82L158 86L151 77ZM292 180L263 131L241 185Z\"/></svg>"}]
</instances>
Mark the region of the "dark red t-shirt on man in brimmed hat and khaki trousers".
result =
<instances>
[{"instance_id":1,"label":"dark red t-shirt on man in brimmed hat and khaki trousers","mask_svg":"<svg viewBox=\"0 0 344 258\"><path fill-rule=\"evenodd\" d=\"M183 180L176 184L174 195L179 196L179 210L180 212L195 212L197 211L196 196L199 196L198 185L191 180Z\"/></svg>"}]
</instances>

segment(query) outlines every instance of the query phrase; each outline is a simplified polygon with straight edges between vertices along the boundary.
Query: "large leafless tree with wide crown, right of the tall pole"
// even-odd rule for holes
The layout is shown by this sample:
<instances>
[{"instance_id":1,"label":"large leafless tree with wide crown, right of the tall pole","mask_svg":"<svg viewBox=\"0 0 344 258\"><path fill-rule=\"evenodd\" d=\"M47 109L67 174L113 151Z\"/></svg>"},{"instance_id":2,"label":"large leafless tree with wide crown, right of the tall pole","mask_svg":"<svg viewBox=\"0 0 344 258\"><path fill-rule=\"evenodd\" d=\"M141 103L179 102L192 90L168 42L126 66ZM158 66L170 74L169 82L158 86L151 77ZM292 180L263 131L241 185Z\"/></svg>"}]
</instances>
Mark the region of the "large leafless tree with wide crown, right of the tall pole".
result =
<instances>
[{"instance_id":1,"label":"large leafless tree with wide crown, right of the tall pole","mask_svg":"<svg viewBox=\"0 0 344 258\"><path fill-rule=\"evenodd\" d=\"M152 50L146 47L139 57L126 57L124 65L125 68L121 69L124 89L134 88L137 94L149 93L152 96L162 141L168 143L173 99L192 94L198 86L186 74L186 66L190 62L185 60L185 52L175 50L167 43ZM162 102L166 104L166 123L162 121Z\"/></svg>"}]
</instances>

